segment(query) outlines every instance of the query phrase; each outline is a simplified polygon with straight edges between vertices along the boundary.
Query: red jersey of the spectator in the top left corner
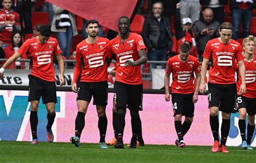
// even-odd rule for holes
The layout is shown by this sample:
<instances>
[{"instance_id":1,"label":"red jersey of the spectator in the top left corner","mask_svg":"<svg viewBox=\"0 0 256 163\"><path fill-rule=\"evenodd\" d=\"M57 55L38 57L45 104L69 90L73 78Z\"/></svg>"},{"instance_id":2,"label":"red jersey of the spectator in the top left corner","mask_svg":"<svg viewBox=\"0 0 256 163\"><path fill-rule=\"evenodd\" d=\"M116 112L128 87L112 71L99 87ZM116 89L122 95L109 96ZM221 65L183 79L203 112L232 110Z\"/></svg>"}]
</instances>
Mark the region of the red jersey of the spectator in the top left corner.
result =
<instances>
[{"instance_id":1,"label":"red jersey of the spectator in the top left corner","mask_svg":"<svg viewBox=\"0 0 256 163\"><path fill-rule=\"evenodd\" d=\"M0 25L4 25L6 20L10 22L15 21L15 26L21 26L21 24L19 23L18 13L12 9L0 10ZM12 26L11 24L7 24L0 32L0 40L3 42L11 42L12 31L14 31L14 26Z\"/></svg>"}]
</instances>

